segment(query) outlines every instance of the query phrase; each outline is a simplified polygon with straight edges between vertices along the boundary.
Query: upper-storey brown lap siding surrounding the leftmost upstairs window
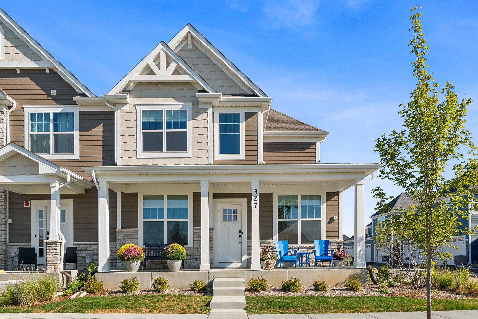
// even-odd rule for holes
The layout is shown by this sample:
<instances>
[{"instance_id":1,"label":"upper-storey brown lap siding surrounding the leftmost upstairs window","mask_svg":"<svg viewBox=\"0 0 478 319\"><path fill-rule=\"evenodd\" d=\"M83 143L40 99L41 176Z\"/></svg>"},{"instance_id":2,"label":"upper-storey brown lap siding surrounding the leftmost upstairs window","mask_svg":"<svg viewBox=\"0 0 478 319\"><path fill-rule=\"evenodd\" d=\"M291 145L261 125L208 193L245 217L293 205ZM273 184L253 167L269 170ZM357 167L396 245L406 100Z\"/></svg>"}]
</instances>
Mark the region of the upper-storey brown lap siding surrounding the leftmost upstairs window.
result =
<instances>
[{"instance_id":1,"label":"upper-storey brown lap siding surrounding the leftmost upstairs window","mask_svg":"<svg viewBox=\"0 0 478 319\"><path fill-rule=\"evenodd\" d=\"M10 115L10 141L24 146L23 106L36 105L75 105L73 97L78 93L58 73L50 69L0 70L0 88L17 101L17 108ZM50 90L56 95L50 95ZM27 123L28 125L28 123ZM114 113L113 111L79 112L79 160L52 160L91 179L81 170L81 166L109 166L114 164Z\"/></svg>"}]
</instances>

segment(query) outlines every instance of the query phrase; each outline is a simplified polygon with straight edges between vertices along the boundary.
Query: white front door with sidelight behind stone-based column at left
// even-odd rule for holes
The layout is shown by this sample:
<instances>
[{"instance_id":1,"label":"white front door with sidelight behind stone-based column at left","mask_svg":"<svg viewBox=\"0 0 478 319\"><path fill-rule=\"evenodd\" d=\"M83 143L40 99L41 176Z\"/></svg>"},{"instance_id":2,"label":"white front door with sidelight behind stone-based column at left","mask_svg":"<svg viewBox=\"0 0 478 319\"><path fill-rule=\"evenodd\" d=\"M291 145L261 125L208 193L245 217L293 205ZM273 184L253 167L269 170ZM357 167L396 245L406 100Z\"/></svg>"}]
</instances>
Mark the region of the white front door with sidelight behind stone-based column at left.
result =
<instances>
[{"instance_id":1,"label":"white front door with sidelight behind stone-based column at left","mask_svg":"<svg viewBox=\"0 0 478 319\"><path fill-rule=\"evenodd\" d=\"M73 199L60 200L60 231L65 236L64 252L66 246L73 246ZM46 265L46 244L44 240L50 239L50 201L32 200L32 236L31 240L37 254L37 264Z\"/></svg>"}]
</instances>

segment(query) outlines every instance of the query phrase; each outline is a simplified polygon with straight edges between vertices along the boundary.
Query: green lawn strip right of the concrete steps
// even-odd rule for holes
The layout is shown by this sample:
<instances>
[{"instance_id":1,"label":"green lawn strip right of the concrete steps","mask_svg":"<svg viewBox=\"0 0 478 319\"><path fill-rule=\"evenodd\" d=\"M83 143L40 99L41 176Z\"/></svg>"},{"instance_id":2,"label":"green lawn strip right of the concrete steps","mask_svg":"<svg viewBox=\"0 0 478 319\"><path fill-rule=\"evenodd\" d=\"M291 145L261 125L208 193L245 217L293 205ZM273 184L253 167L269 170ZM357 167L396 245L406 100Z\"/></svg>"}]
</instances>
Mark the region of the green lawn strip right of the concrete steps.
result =
<instances>
[{"instance_id":1,"label":"green lawn strip right of the concrete steps","mask_svg":"<svg viewBox=\"0 0 478 319\"><path fill-rule=\"evenodd\" d=\"M248 314L425 311L424 299L409 297L246 297ZM433 310L478 309L478 299L439 299Z\"/></svg>"}]
</instances>

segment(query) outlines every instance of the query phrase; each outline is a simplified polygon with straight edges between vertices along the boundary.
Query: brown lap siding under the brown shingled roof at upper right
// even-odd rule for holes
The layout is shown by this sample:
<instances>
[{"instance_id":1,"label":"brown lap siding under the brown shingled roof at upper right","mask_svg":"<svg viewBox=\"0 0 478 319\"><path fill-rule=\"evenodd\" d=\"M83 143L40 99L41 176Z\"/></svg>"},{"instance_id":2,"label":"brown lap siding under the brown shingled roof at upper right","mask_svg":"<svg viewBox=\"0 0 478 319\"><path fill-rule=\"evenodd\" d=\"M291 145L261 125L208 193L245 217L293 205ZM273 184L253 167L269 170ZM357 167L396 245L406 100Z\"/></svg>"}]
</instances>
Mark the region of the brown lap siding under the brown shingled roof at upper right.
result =
<instances>
[{"instance_id":1,"label":"brown lap siding under the brown shingled roof at upper right","mask_svg":"<svg viewBox=\"0 0 478 319\"><path fill-rule=\"evenodd\" d=\"M315 143L264 143L266 164L315 164Z\"/></svg>"}]
</instances>

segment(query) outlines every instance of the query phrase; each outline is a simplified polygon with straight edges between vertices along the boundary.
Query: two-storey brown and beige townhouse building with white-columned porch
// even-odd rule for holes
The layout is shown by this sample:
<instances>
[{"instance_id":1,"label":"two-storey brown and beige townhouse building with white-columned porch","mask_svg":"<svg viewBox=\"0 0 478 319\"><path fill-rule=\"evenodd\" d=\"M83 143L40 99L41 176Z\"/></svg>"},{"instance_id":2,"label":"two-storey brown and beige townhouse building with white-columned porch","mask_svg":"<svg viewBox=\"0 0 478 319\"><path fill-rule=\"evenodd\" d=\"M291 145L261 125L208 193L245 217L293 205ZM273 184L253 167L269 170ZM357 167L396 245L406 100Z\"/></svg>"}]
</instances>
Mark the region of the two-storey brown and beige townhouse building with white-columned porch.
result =
<instances>
[{"instance_id":1,"label":"two-storey brown and beige townhouse building with white-columned porch","mask_svg":"<svg viewBox=\"0 0 478 319\"><path fill-rule=\"evenodd\" d=\"M2 263L32 246L58 271L64 236L100 272L123 267L130 242L183 244L185 268L255 270L271 240L341 244L349 187L363 246L364 179L380 165L321 164L328 132L272 110L190 24L98 97L1 10L0 27Z\"/></svg>"}]
</instances>

